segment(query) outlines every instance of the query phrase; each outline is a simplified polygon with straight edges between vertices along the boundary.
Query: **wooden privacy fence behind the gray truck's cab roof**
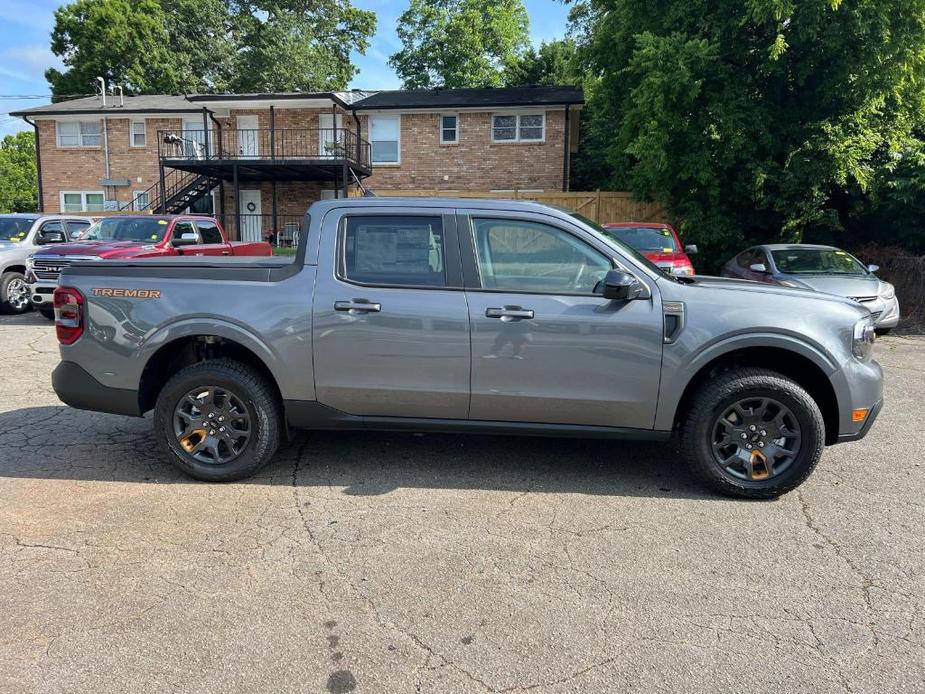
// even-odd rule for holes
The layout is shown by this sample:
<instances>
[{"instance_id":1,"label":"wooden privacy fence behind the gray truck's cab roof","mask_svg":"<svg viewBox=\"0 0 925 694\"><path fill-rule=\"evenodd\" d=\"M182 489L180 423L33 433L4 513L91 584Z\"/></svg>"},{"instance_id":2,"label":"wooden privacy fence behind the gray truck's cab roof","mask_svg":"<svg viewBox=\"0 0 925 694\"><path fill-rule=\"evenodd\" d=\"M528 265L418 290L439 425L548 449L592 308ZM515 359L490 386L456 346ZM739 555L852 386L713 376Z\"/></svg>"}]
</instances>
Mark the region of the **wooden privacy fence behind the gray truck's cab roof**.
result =
<instances>
[{"instance_id":1,"label":"wooden privacy fence behind the gray truck's cab roof","mask_svg":"<svg viewBox=\"0 0 925 694\"><path fill-rule=\"evenodd\" d=\"M612 191L538 193L526 190L506 192L484 190L381 190L373 188L383 197L440 197L440 198L495 198L502 200L535 200L546 205L558 205L575 210L599 224L608 222L667 222L664 210L653 202L640 202L630 193Z\"/></svg>"}]
</instances>

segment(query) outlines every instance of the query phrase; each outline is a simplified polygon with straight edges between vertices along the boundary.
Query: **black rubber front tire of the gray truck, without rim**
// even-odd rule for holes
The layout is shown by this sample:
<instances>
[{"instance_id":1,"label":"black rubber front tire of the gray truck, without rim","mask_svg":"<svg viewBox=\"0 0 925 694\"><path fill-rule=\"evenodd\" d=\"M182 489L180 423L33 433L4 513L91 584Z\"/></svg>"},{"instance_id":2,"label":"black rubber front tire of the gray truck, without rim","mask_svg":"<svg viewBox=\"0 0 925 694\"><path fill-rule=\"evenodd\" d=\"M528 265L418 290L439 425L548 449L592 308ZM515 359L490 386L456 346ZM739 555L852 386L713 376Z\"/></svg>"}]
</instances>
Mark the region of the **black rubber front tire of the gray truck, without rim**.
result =
<instances>
[{"instance_id":1,"label":"black rubber front tire of the gray truck, without rim","mask_svg":"<svg viewBox=\"0 0 925 694\"><path fill-rule=\"evenodd\" d=\"M790 408L801 429L800 449L790 466L767 480L742 480L714 459L711 436L722 411L749 396L774 398ZM825 422L815 400L801 386L775 371L737 368L704 383L681 420L681 453L691 473L710 489L748 499L772 499L800 486L825 447Z\"/></svg>"}]
</instances>

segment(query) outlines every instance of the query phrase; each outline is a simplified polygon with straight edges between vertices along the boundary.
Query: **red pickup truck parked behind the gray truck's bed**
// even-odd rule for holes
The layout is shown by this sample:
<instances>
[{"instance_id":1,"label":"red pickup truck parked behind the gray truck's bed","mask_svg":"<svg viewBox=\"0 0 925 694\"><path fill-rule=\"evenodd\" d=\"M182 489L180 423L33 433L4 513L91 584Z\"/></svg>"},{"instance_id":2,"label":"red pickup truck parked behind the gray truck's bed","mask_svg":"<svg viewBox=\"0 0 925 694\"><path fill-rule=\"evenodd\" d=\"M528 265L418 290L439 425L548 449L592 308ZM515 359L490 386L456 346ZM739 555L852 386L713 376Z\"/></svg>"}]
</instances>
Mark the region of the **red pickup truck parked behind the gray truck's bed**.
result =
<instances>
[{"instance_id":1,"label":"red pickup truck parked behind the gray truck's bed","mask_svg":"<svg viewBox=\"0 0 925 694\"><path fill-rule=\"evenodd\" d=\"M54 318L52 295L61 269L76 261L163 258L177 255L268 256L268 243L231 242L214 217L126 215L103 217L79 240L43 248L26 263L32 306Z\"/></svg>"}]
</instances>

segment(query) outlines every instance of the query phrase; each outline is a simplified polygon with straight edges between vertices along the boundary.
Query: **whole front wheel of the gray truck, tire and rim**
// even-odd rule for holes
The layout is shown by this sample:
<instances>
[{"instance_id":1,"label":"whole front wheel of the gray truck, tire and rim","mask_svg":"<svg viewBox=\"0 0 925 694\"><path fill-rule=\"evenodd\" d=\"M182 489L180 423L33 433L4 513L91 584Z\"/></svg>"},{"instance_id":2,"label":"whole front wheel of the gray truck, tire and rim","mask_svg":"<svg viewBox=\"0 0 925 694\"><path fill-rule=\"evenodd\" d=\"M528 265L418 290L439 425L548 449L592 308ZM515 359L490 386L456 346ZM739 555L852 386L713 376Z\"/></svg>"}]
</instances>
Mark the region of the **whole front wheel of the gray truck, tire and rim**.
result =
<instances>
[{"instance_id":1,"label":"whole front wheel of the gray truck, tire and rim","mask_svg":"<svg viewBox=\"0 0 925 694\"><path fill-rule=\"evenodd\" d=\"M695 394L681 425L691 471L730 496L768 499L798 487L819 462L825 423L799 385L774 371L742 368Z\"/></svg>"}]
</instances>

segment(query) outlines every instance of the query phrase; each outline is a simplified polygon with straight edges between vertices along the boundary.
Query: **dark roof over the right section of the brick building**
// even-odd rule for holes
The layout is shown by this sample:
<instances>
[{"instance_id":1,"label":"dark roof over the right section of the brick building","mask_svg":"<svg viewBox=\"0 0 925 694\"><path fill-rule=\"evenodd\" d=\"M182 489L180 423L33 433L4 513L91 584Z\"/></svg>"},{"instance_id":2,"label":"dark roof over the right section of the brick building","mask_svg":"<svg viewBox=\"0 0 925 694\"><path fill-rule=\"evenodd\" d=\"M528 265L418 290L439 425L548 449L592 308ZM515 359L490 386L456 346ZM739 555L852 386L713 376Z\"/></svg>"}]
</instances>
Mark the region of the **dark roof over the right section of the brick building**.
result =
<instances>
[{"instance_id":1,"label":"dark roof over the right section of the brick building","mask_svg":"<svg viewBox=\"0 0 925 694\"><path fill-rule=\"evenodd\" d=\"M376 92L353 104L362 110L477 108L479 106L564 106L583 104L579 87L485 87L481 89L396 89Z\"/></svg>"}]
</instances>

